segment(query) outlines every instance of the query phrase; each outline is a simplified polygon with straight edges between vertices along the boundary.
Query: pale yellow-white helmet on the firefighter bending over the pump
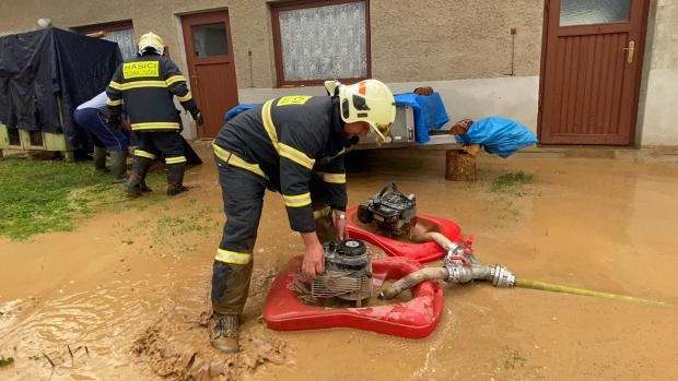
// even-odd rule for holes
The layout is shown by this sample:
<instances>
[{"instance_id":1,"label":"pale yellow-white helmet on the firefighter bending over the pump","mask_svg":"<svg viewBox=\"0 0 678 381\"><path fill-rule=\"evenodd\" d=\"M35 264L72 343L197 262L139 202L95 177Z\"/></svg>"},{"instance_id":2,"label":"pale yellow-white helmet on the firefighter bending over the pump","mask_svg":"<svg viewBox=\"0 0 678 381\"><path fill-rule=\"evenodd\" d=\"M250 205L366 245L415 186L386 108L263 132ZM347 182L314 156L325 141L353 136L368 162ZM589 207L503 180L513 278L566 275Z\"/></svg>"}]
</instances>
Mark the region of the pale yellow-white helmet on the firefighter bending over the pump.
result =
<instances>
[{"instance_id":1,"label":"pale yellow-white helmet on the firefighter bending over the pump","mask_svg":"<svg viewBox=\"0 0 678 381\"><path fill-rule=\"evenodd\" d=\"M388 86L377 80L365 80L352 85L327 81L325 87L339 96L344 122L364 121L376 133L377 142L386 140L396 119L396 103Z\"/></svg>"}]
</instances>

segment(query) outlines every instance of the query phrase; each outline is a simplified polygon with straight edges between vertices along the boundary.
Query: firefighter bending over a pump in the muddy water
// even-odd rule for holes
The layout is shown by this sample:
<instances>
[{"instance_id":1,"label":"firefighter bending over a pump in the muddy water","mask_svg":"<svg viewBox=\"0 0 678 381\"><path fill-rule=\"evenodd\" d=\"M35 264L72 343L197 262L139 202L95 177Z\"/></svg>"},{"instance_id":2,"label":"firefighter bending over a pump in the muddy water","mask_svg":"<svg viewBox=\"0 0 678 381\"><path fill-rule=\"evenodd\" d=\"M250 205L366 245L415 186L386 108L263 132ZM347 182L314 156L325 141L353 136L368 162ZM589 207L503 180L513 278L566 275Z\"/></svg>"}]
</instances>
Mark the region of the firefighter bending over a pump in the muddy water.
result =
<instances>
[{"instance_id":1,"label":"firefighter bending over a pump in the muddy water","mask_svg":"<svg viewBox=\"0 0 678 381\"><path fill-rule=\"evenodd\" d=\"M348 238L342 153L370 130L383 141L394 122L394 96L382 82L328 81L326 88L330 96L283 96L244 111L214 141L226 223L213 263L209 330L212 346L224 353L239 350L238 318L266 189L282 193L290 227L305 247L302 273L314 278L325 265L316 230L334 225L336 239Z\"/></svg>"}]
</instances>

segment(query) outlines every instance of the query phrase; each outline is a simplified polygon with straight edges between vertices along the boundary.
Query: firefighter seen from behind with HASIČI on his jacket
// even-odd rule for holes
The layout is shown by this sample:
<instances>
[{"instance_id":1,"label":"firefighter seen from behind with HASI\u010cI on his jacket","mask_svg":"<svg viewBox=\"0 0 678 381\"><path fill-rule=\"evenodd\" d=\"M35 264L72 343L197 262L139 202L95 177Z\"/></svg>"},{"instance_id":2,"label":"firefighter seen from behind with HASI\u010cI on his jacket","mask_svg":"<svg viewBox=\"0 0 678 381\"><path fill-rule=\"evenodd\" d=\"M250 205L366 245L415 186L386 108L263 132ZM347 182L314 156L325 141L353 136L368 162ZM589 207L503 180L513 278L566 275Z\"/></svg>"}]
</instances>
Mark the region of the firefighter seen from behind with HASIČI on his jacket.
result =
<instances>
[{"instance_id":1,"label":"firefighter seen from behind with HASI\u010cI on his jacket","mask_svg":"<svg viewBox=\"0 0 678 381\"><path fill-rule=\"evenodd\" d=\"M106 88L109 123L120 123L125 104L131 129L140 142L135 150L132 174L125 183L127 192L135 197L150 191L145 176L155 158L165 160L167 195L187 190L184 187L184 140L179 134L182 120L174 107L173 95L198 126L202 124L202 116L192 100L186 78L173 61L163 57L164 49L160 36L153 33L141 36L139 56L118 67Z\"/></svg>"}]
</instances>

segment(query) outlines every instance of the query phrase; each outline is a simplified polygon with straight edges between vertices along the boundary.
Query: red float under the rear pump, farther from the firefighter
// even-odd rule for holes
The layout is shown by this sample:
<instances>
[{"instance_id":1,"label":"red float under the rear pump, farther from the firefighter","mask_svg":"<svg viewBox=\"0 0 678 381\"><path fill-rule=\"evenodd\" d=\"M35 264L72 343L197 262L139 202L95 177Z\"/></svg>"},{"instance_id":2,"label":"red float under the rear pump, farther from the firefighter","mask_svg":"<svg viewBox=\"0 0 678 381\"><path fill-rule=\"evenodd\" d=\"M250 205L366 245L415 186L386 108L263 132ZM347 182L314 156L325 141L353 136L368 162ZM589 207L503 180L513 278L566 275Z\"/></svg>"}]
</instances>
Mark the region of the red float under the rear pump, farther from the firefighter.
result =
<instances>
[{"instance_id":1,"label":"red float under the rear pump, farther from the firefighter","mask_svg":"<svg viewBox=\"0 0 678 381\"><path fill-rule=\"evenodd\" d=\"M423 213L417 213L414 218L414 225L422 228L422 230L441 233L453 242L464 241L461 228L449 219L439 218ZM436 242L402 242L379 236L376 233L367 231L364 228L365 225L358 221L358 206L347 211L347 221L349 237L370 242L384 250L388 255L405 257L421 263L426 263L441 259L446 254L445 249L441 248Z\"/></svg>"}]
</instances>

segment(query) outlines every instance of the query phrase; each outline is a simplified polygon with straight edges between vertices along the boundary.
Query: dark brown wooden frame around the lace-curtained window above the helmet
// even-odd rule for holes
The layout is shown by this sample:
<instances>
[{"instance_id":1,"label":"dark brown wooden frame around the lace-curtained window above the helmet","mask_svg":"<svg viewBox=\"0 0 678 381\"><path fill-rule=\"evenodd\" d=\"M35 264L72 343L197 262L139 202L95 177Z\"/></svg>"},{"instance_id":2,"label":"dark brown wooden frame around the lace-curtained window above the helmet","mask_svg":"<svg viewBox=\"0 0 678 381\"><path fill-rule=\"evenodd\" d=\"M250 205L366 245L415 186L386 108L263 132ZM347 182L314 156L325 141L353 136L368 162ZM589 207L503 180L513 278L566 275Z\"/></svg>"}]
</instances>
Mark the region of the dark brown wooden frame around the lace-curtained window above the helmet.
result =
<instances>
[{"instance_id":1,"label":"dark brown wooden frame around the lace-curtained window above the helmet","mask_svg":"<svg viewBox=\"0 0 678 381\"><path fill-rule=\"evenodd\" d=\"M366 80L372 76L372 49L371 49L371 34L370 34L370 0L293 0L283 1L270 4L271 9L271 26L273 32L273 51L276 58L276 86L277 87L302 87L302 86L318 86L323 85L326 80L297 80L287 81L284 79L284 68L282 60L282 40L280 37L280 12L295 11L306 8L320 8L326 5L344 4L352 2L362 2L365 4L365 55L367 56L367 75L365 78L349 78L349 79L336 79L343 83L354 83L362 80Z\"/></svg>"}]
</instances>

